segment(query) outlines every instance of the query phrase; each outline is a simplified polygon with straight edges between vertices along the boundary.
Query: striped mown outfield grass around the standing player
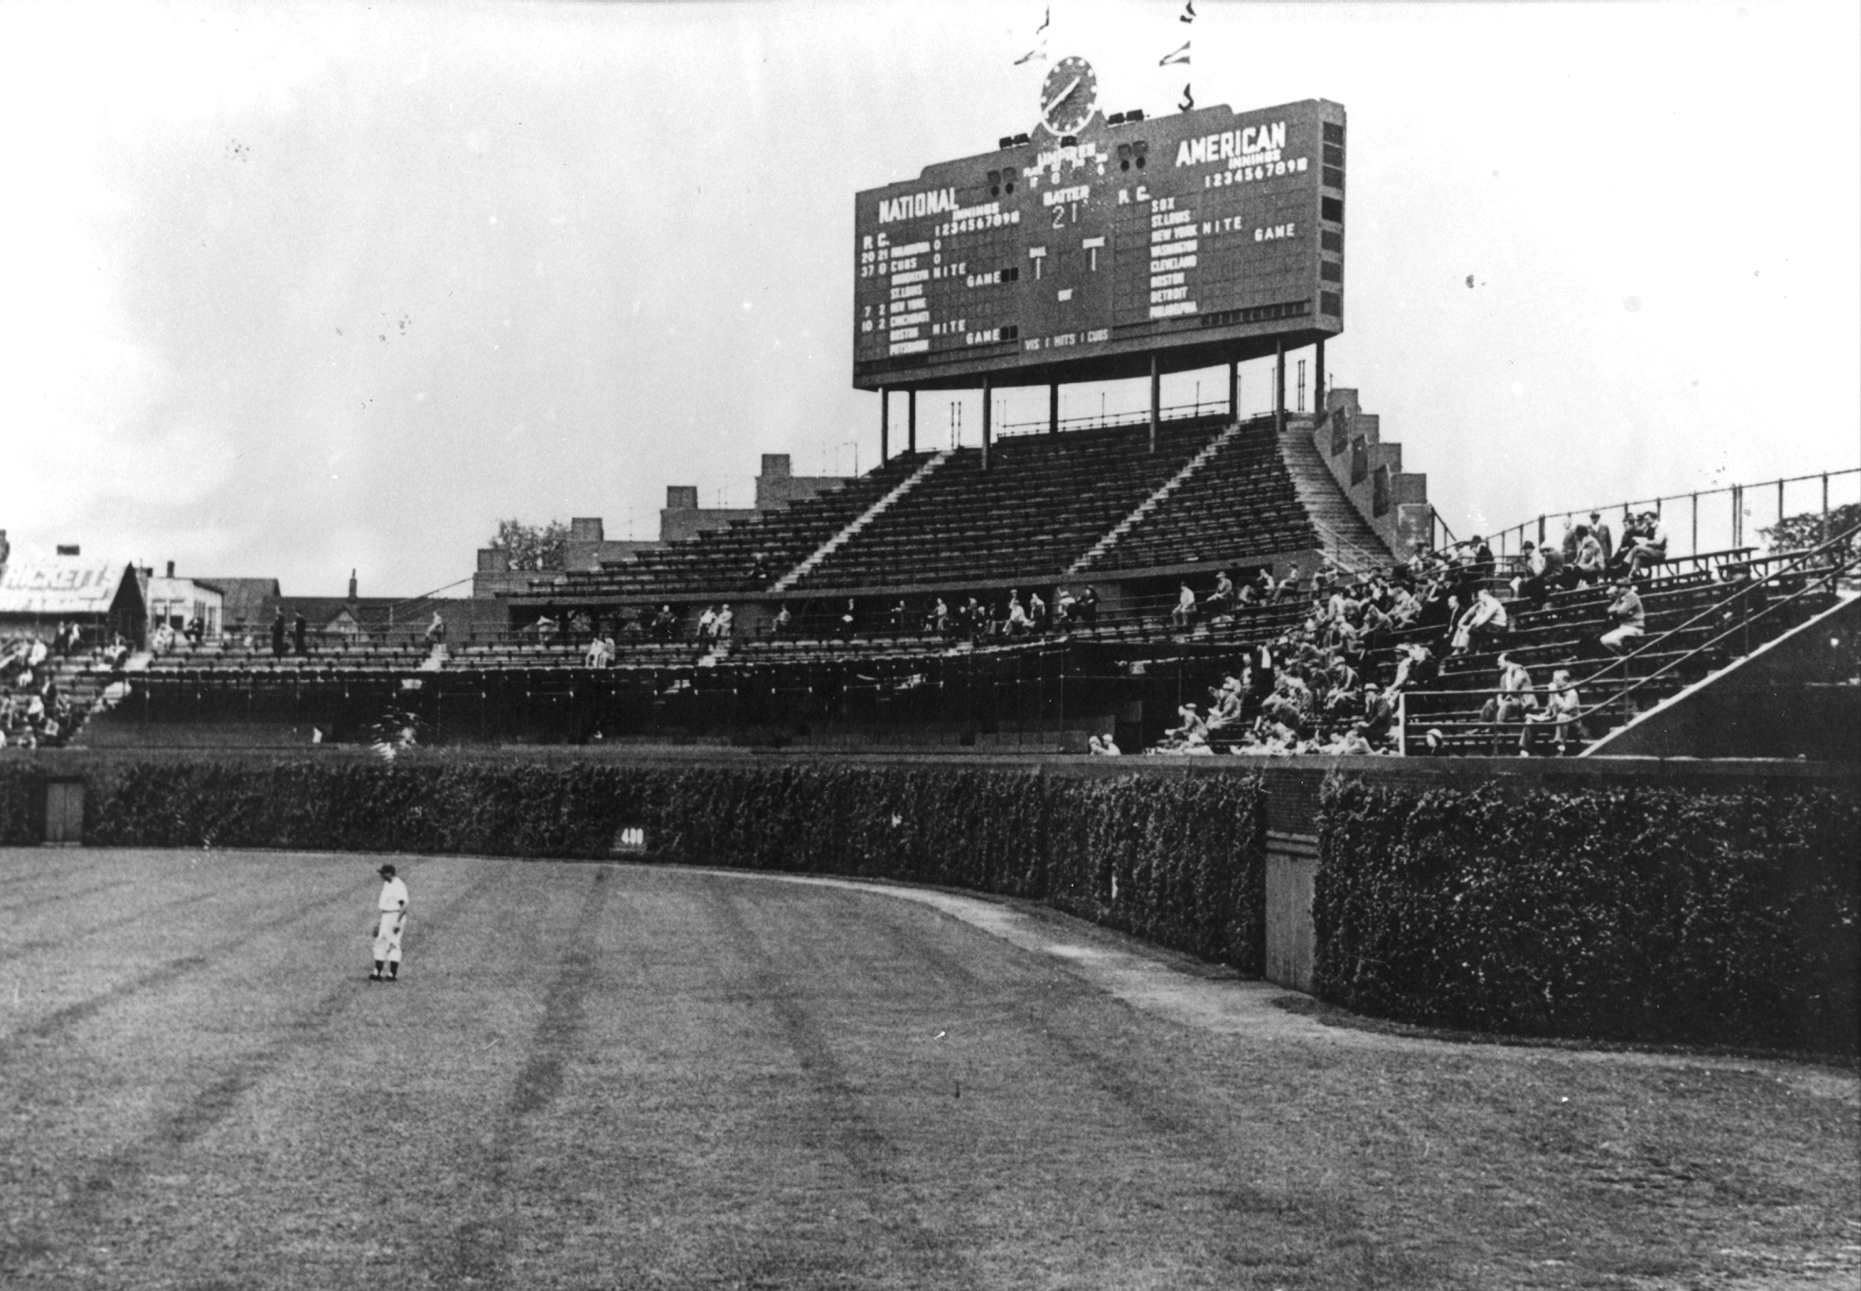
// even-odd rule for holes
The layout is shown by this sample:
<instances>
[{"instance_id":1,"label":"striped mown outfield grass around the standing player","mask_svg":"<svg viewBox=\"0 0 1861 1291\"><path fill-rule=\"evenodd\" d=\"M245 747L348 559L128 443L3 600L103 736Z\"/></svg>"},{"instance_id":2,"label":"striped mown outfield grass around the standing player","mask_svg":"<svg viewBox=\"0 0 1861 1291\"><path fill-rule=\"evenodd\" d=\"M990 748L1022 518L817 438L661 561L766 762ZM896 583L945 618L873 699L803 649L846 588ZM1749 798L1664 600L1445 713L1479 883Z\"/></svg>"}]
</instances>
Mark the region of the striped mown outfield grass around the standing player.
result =
<instances>
[{"instance_id":1,"label":"striped mown outfield grass around the standing player","mask_svg":"<svg viewBox=\"0 0 1861 1291\"><path fill-rule=\"evenodd\" d=\"M1852 1071L1344 1031L1033 908L648 867L400 858L370 986L378 861L0 850L0 1284L1861 1278Z\"/></svg>"}]
</instances>

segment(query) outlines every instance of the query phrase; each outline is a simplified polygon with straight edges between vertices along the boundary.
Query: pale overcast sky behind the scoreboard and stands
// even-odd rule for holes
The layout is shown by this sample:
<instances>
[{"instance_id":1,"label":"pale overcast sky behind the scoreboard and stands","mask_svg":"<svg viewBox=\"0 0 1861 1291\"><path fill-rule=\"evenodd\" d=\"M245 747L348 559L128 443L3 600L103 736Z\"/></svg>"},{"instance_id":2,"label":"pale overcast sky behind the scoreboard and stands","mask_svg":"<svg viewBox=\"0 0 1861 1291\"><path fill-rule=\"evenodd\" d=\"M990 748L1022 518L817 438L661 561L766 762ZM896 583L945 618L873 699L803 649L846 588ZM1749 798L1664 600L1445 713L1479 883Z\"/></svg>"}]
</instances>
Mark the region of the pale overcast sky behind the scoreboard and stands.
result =
<instances>
[{"instance_id":1,"label":"pale overcast sky behind the scoreboard and stands","mask_svg":"<svg viewBox=\"0 0 1861 1291\"><path fill-rule=\"evenodd\" d=\"M871 469L852 193L1031 128L1042 9L0 4L0 528L411 595L499 517ZM1861 6L1180 11L1053 0L1048 52L1347 108L1329 368L1457 530L1861 459Z\"/></svg>"}]
</instances>

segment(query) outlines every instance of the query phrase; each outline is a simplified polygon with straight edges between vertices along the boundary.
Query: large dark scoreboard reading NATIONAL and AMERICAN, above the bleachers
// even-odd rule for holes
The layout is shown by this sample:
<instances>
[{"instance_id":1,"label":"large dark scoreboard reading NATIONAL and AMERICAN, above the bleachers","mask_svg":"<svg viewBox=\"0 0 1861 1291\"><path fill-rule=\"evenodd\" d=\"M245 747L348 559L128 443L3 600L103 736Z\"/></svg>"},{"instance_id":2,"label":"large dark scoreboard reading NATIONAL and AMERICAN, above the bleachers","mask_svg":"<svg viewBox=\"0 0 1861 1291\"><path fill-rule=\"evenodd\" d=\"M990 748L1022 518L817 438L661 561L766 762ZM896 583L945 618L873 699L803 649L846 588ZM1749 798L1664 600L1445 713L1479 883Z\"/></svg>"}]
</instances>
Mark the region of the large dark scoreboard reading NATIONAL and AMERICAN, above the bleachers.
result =
<instances>
[{"instance_id":1,"label":"large dark scoreboard reading NATIONAL and AMERICAN, above the bleachers","mask_svg":"<svg viewBox=\"0 0 1861 1291\"><path fill-rule=\"evenodd\" d=\"M929 166L856 197L852 383L1111 379L1344 331L1344 108L1172 117Z\"/></svg>"}]
</instances>

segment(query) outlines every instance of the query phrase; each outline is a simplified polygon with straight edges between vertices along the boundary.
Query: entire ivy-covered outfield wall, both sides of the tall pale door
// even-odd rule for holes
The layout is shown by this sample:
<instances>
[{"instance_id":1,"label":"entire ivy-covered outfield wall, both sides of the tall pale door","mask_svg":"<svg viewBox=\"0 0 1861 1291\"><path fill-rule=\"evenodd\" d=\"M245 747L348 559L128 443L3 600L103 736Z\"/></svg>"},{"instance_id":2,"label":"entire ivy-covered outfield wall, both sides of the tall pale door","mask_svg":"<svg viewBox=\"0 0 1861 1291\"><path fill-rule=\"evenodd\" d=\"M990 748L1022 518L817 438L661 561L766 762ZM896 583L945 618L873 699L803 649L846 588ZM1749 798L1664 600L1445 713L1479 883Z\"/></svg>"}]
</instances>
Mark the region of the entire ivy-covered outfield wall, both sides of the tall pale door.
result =
<instances>
[{"instance_id":1,"label":"entire ivy-covered outfield wall, both sides of the tall pale door","mask_svg":"<svg viewBox=\"0 0 1861 1291\"><path fill-rule=\"evenodd\" d=\"M1524 759L0 755L0 843L610 858L1046 900L1265 967L1267 830L1316 833L1314 990L1509 1034L1855 1053L1855 768ZM1319 789L1323 787L1323 792Z\"/></svg>"}]
</instances>

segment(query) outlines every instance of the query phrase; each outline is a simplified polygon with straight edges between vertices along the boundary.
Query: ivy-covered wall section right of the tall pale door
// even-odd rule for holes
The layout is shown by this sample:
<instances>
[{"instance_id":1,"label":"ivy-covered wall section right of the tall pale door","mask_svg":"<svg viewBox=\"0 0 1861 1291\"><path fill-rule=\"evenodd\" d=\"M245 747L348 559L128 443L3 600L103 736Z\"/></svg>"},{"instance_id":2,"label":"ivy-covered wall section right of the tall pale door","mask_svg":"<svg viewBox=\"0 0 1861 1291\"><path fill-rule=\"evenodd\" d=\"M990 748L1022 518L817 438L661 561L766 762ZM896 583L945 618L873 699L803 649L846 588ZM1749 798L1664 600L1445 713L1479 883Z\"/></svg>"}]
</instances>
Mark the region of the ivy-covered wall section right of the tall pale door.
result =
<instances>
[{"instance_id":1,"label":"ivy-covered wall section right of the tall pale door","mask_svg":"<svg viewBox=\"0 0 1861 1291\"><path fill-rule=\"evenodd\" d=\"M1331 778L1316 992L1476 1031L1855 1053L1854 779L1586 781Z\"/></svg>"}]
</instances>

